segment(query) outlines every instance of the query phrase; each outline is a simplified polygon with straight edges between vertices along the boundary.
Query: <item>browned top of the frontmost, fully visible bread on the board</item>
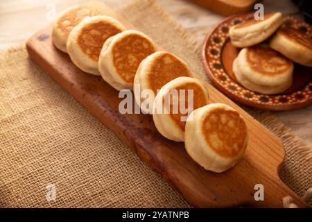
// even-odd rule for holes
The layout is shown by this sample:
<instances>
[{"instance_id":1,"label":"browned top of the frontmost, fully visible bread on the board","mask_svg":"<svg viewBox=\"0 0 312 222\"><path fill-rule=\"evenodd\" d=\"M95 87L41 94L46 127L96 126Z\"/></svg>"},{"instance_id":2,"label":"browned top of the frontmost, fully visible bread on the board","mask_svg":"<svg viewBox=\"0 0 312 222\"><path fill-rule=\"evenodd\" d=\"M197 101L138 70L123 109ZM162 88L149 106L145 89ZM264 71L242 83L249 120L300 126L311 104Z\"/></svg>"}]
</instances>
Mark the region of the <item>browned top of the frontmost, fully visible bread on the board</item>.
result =
<instances>
[{"instance_id":1,"label":"browned top of the frontmost, fully visible bread on the board","mask_svg":"<svg viewBox=\"0 0 312 222\"><path fill-rule=\"evenodd\" d=\"M202 131L209 147L222 157L235 157L245 146L246 124L236 111L212 110L203 121Z\"/></svg>"}]
</instances>

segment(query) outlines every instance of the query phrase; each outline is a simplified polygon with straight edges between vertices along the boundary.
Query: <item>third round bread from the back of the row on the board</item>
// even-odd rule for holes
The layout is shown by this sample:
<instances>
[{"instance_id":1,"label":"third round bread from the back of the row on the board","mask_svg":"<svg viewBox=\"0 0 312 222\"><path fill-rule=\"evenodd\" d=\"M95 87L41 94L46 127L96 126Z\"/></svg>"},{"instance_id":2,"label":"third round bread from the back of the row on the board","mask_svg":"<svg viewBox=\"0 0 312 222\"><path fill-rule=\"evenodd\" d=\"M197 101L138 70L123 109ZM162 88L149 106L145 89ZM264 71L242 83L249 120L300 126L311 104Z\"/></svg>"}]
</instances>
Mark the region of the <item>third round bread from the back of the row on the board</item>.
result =
<instances>
[{"instance_id":1,"label":"third round bread from the back of the row on the board","mask_svg":"<svg viewBox=\"0 0 312 222\"><path fill-rule=\"evenodd\" d=\"M115 89L133 89L141 61L156 50L153 40L144 33L123 31L110 37L103 45L98 69L103 79Z\"/></svg>"}]
</instances>

